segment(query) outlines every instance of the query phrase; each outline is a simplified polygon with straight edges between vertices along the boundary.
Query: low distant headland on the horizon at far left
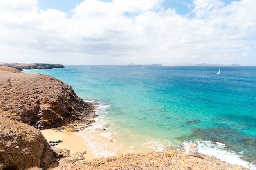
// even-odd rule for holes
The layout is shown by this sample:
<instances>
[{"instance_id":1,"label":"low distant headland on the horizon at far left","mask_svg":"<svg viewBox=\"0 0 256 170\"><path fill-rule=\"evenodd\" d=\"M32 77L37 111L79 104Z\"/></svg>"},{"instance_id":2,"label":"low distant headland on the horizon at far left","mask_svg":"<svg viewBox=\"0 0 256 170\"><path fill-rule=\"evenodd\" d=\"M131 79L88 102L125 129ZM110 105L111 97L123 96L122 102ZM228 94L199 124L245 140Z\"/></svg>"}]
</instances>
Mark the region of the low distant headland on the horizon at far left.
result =
<instances>
[{"instance_id":1,"label":"low distant headland on the horizon at far left","mask_svg":"<svg viewBox=\"0 0 256 170\"><path fill-rule=\"evenodd\" d=\"M32 69L52 69L52 68L64 68L61 64L48 64L48 63L1 63L0 66L6 66L11 68L16 68L17 70L32 70Z\"/></svg>"}]
</instances>

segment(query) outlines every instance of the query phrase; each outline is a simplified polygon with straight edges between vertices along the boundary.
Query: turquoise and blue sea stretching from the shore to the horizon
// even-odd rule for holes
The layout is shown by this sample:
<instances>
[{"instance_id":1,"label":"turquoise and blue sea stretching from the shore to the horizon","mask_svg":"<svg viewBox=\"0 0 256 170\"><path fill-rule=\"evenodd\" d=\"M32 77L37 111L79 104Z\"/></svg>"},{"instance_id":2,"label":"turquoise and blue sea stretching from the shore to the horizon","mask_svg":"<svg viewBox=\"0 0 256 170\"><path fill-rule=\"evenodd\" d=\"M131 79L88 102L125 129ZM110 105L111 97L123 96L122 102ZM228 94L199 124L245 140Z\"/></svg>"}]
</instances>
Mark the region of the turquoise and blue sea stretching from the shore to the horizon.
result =
<instances>
[{"instance_id":1,"label":"turquoise and blue sea stretching from the shore to the horizon","mask_svg":"<svg viewBox=\"0 0 256 170\"><path fill-rule=\"evenodd\" d=\"M52 75L86 101L96 122L79 134L99 157L184 150L256 170L256 67L65 66Z\"/></svg>"}]
</instances>

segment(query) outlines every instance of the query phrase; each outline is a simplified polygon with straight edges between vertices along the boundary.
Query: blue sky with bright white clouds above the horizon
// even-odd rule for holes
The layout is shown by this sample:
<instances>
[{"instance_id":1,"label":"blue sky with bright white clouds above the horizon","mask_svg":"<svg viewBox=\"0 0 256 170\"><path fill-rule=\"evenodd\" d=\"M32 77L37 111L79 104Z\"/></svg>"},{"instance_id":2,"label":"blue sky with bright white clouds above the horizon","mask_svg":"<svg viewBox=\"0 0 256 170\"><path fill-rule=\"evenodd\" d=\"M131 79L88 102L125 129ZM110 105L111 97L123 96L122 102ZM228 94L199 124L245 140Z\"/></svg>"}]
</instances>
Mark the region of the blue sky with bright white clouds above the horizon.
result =
<instances>
[{"instance_id":1,"label":"blue sky with bright white clouds above the horizon","mask_svg":"<svg viewBox=\"0 0 256 170\"><path fill-rule=\"evenodd\" d=\"M256 66L256 0L1 0L0 62Z\"/></svg>"}]
</instances>

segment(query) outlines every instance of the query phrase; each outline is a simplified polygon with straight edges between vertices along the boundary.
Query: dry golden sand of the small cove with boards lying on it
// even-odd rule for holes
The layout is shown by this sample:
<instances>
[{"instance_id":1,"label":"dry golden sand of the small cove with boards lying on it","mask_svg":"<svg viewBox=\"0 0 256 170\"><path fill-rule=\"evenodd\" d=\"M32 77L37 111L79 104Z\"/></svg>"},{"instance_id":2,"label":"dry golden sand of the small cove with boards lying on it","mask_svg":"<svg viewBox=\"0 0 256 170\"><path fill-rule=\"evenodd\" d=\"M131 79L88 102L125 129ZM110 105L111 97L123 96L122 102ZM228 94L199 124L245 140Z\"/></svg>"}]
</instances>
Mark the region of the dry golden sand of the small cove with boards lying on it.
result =
<instances>
[{"instance_id":1,"label":"dry golden sand of the small cove with boards lying on it","mask_svg":"<svg viewBox=\"0 0 256 170\"><path fill-rule=\"evenodd\" d=\"M98 159L99 157L95 156L89 146L85 145L83 137L77 132L57 132L52 129L41 130L44 137L47 141L56 141L62 140L63 142L58 143L56 148L70 150L71 153L75 152L84 152L85 160Z\"/></svg>"}]
</instances>

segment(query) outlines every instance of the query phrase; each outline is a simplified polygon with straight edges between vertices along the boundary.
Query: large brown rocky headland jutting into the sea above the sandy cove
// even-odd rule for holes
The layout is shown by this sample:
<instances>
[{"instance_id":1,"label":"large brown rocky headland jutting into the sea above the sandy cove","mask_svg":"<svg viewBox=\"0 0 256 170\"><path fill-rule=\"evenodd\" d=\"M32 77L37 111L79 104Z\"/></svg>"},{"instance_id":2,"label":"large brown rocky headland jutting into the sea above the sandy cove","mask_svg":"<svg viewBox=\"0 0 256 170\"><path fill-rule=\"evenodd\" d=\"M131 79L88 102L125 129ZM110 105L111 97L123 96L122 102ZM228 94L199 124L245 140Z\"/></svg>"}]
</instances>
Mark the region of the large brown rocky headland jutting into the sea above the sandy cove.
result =
<instances>
[{"instance_id":1,"label":"large brown rocky headland jutting into the sea above the sandy cove","mask_svg":"<svg viewBox=\"0 0 256 170\"><path fill-rule=\"evenodd\" d=\"M39 130L94 121L93 104L71 86L43 74L1 74L0 116Z\"/></svg>"}]
</instances>

